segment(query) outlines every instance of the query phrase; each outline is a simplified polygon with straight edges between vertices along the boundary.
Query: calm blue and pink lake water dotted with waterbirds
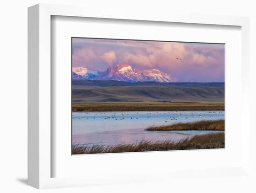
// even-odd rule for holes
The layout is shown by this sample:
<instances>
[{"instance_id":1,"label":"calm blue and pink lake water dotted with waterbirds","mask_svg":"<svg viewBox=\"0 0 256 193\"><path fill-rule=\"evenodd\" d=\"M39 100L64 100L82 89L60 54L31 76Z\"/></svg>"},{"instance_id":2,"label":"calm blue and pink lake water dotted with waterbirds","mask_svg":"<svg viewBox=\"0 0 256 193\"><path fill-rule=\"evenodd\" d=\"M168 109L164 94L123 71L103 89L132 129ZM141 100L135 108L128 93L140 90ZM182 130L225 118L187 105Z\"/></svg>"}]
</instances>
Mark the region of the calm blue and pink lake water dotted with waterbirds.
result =
<instances>
[{"instance_id":1,"label":"calm blue and pink lake water dotted with waterbirds","mask_svg":"<svg viewBox=\"0 0 256 193\"><path fill-rule=\"evenodd\" d=\"M74 144L131 144L146 141L179 141L193 135L219 131L145 131L148 126L175 122L224 119L224 111L73 112Z\"/></svg>"}]
</instances>

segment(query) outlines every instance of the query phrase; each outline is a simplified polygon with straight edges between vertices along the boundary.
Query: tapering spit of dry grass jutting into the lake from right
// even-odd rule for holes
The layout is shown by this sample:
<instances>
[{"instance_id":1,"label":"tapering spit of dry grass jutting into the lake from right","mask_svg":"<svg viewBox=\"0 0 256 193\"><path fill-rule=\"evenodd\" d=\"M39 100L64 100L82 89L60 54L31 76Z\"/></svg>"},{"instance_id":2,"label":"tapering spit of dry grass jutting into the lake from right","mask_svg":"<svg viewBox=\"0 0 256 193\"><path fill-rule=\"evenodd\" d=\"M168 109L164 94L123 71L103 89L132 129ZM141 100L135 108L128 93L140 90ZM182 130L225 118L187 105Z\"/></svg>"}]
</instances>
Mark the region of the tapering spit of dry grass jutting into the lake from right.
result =
<instances>
[{"instance_id":1,"label":"tapering spit of dry grass jutting into the lake from right","mask_svg":"<svg viewBox=\"0 0 256 193\"><path fill-rule=\"evenodd\" d=\"M171 125L150 126L147 131L174 131L174 130L211 130L224 131L224 120L206 120L197 122L178 122Z\"/></svg>"}]
</instances>

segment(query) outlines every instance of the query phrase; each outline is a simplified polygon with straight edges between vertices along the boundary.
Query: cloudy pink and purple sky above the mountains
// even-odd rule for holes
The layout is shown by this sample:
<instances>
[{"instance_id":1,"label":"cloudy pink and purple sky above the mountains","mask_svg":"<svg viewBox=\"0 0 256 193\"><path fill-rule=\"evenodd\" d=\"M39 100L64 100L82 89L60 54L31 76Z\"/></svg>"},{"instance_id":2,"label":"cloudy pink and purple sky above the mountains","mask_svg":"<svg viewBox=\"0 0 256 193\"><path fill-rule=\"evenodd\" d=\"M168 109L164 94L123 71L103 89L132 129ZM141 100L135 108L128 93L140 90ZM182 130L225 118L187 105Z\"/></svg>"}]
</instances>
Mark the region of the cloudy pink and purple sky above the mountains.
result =
<instances>
[{"instance_id":1,"label":"cloudy pink and purple sky above the mountains","mask_svg":"<svg viewBox=\"0 0 256 193\"><path fill-rule=\"evenodd\" d=\"M181 81L224 82L224 44L72 39L73 67L106 71L117 64L158 69Z\"/></svg>"}]
</instances>

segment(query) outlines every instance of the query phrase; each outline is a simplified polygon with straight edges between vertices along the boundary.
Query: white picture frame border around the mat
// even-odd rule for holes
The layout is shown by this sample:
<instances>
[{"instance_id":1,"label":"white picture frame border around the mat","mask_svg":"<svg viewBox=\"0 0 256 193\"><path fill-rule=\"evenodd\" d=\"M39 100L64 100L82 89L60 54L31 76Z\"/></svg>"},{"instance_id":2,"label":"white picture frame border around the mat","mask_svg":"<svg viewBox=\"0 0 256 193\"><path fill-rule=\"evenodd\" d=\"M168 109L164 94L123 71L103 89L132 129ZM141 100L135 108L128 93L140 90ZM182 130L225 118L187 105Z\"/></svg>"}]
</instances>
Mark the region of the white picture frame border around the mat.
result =
<instances>
[{"instance_id":1,"label":"white picture frame border around the mat","mask_svg":"<svg viewBox=\"0 0 256 193\"><path fill-rule=\"evenodd\" d=\"M181 176L181 171L172 173L155 171L149 178L148 174L125 174L116 178L108 175L52 177L51 170L51 16L89 17L105 19L129 19L155 22L177 22L203 25L240 26L242 30L242 101L243 115L241 124L241 164L236 167L205 168L193 171L194 176L249 175L249 18L216 15L184 15L163 13L152 16L140 13L115 10L109 14L107 10L95 13L89 7L38 4L28 8L28 185L36 188L77 187L100 184L118 184L130 182L157 181L162 178ZM161 155L160 155L161 156ZM188 173L188 174L187 174ZM189 171L182 171L182 175ZM191 171L190 171L191 173ZM224 176L225 176L224 175ZM159 176L163 176L159 178ZM146 178L145 178L146 177Z\"/></svg>"}]
</instances>

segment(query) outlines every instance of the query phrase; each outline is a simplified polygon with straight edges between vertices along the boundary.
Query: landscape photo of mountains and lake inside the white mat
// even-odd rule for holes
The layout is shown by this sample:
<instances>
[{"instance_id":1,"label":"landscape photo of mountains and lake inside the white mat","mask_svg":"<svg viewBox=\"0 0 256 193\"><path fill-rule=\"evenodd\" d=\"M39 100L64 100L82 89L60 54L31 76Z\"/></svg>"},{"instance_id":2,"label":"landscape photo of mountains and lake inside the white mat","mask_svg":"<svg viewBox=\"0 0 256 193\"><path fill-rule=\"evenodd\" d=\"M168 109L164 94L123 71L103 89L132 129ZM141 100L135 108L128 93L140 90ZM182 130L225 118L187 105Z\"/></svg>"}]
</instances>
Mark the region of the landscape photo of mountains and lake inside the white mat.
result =
<instances>
[{"instance_id":1,"label":"landscape photo of mountains and lake inside the white mat","mask_svg":"<svg viewBox=\"0 0 256 193\"><path fill-rule=\"evenodd\" d=\"M224 148L224 44L72 38L72 154Z\"/></svg>"}]
</instances>

